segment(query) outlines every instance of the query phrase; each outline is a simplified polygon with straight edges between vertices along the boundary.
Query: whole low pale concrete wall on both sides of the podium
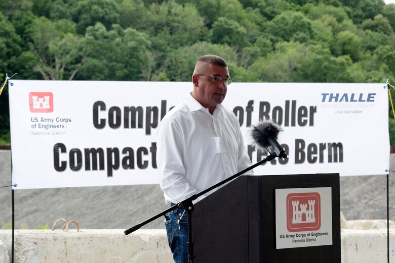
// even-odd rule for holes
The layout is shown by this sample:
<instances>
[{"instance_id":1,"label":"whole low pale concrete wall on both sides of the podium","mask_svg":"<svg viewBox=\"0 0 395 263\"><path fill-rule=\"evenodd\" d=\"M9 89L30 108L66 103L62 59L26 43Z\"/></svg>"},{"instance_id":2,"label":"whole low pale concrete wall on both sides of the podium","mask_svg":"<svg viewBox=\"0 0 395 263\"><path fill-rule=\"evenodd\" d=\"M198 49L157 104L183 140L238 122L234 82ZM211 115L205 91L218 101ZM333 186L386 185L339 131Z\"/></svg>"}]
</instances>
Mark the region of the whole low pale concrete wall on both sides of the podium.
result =
<instances>
[{"instance_id":1,"label":"whole low pale concrete wall on both sides of the podium","mask_svg":"<svg viewBox=\"0 0 395 263\"><path fill-rule=\"evenodd\" d=\"M165 230L16 230L15 263L173 263ZM0 230L11 252L11 230ZM1 242L0 242L1 243ZM3 252L2 252L3 251ZM3 255L2 255L3 253ZM9 258L0 245L0 263ZM10 254L11 258L11 254ZM341 230L342 263L387 262L386 229ZM3 261L2 261L3 260ZM390 262L395 262L395 229L390 229ZM336 263L336 262L334 262Z\"/></svg>"}]
</instances>

